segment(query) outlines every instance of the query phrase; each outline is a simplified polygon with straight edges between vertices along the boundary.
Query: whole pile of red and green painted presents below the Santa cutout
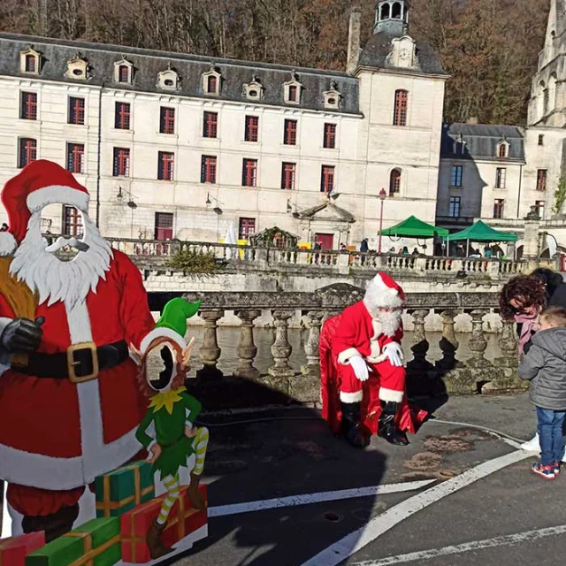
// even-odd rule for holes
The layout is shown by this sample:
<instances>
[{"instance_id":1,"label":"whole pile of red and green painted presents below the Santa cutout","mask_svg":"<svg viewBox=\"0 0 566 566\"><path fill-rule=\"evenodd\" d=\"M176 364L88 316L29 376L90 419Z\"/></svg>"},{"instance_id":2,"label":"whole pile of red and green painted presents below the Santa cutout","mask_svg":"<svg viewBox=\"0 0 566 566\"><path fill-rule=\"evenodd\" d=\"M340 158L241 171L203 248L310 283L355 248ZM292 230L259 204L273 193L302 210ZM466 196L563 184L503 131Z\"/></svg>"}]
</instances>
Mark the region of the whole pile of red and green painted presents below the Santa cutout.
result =
<instances>
[{"instance_id":1,"label":"whole pile of red and green painted presents below the Santa cutout","mask_svg":"<svg viewBox=\"0 0 566 566\"><path fill-rule=\"evenodd\" d=\"M0 566L113 566L150 561L146 537L166 495L154 498L151 465L131 463L96 478L96 516L45 544L43 532L0 540ZM206 486L199 492L206 501ZM181 489L164 530L165 546L207 524L207 511L192 509L187 487ZM203 537L206 532L202 533ZM120 562L121 563L121 562Z\"/></svg>"}]
</instances>

